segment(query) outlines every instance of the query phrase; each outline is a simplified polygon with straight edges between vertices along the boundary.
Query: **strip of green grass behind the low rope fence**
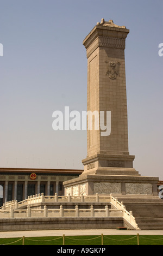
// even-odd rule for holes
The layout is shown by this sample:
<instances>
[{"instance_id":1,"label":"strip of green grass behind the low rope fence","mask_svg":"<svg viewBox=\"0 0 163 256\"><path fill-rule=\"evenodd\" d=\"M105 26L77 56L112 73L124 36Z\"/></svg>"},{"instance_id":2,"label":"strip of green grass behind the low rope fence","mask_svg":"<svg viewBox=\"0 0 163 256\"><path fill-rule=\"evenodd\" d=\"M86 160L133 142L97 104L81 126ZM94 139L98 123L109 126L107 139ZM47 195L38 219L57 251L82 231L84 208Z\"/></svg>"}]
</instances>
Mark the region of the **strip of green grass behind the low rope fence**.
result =
<instances>
[{"instance_id":1,"label":"strip of green grass behind the low rope fence","mask_svg":"<svg viewBox=\"0 0 163 256\"><path fill-rule=\"evenodd\" d=\"M22 242L22 237L0 239L0 245L22 245ZM24 245L63 245L63 237L24 237ZM102 237L101 235L65 236L65 245L102 245ZM137 245L137 236L104 235L103 245ZM163 236L139 235L139 245L163 245Z\"/></svg>"}]
</instances>

